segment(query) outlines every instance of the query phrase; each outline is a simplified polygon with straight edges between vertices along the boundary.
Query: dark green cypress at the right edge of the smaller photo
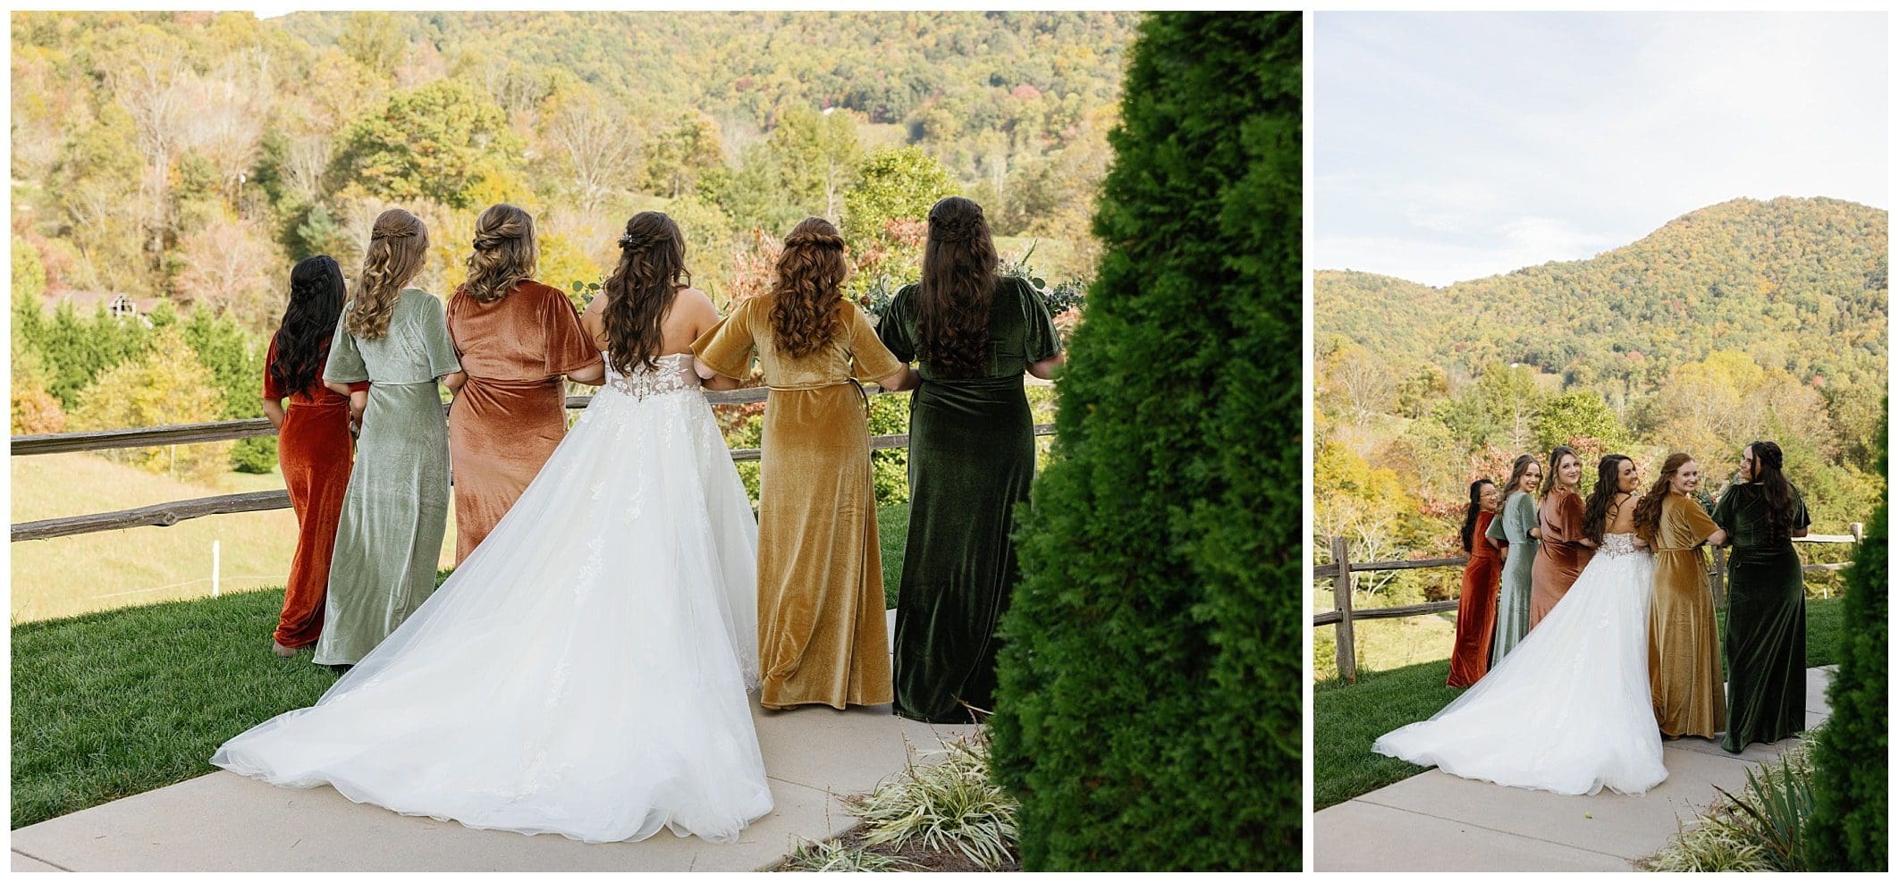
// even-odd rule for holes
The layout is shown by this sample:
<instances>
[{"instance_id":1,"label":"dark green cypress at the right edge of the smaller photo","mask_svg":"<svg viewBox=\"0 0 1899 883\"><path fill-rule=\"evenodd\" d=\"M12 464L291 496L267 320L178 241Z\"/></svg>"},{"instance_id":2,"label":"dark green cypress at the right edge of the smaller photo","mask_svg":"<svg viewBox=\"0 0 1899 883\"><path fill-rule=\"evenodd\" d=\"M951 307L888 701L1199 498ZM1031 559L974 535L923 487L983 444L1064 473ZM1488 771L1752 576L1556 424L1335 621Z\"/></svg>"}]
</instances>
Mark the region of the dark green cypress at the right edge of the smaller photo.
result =
<instances>
[{"instance_id":1,"label":"dark green cypress at the right edge of the smaller photo","mask_svg":"<svg viewBox=\"0 0 1899 883\"><path fill-rule=\"evenodd\" d=\"M1884 458L1886 439L1880 439ZM1827 689L1833 718L1814 752L1815 870L1886 870L1886 505L1846 570L1840 670Z\"/></svg>"}]
</instances>

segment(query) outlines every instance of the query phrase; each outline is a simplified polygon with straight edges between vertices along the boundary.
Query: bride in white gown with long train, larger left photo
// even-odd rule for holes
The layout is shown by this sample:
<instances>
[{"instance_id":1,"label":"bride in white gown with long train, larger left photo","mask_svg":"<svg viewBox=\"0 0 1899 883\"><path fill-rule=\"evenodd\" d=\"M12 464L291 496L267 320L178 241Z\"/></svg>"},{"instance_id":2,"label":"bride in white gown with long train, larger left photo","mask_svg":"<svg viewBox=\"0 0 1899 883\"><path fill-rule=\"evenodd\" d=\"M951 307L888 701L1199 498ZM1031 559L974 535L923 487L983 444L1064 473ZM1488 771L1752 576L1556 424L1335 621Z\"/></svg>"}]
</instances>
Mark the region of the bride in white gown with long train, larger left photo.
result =
<instances>
[{"instance_id":1,"label":"bride in white gown with long train, larger left photo","mask_svg":"<svg viewBox=\"0 0 1899 883\"><path fill-rule=\"evenodd\" d=\"M733 841L771 811L758 524L699 393L684 237L627 222L581 325L608 382L494 534L311 708L213 763L469 828Z\"/></svg>"}]
</instances>

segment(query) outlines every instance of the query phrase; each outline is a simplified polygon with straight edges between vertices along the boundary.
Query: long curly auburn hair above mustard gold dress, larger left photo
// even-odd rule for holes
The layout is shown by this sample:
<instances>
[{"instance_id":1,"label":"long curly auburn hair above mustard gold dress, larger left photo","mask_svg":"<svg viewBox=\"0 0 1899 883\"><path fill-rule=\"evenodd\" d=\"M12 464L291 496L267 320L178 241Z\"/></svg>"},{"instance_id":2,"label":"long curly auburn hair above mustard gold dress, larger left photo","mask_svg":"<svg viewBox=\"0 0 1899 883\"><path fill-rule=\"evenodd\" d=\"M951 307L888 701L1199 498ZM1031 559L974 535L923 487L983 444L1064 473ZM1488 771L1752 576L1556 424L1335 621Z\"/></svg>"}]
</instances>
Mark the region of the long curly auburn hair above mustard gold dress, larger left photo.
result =
<instances>
[{"instance_id":1,"label":"long curly auburn hair above mustard gold dress, larger left photo","mask_svg":"<svg viewBox=\"0 0 1899 883\"><path fill-rule=\"evenodd\" d=\"M771 285L771 330L779 349L796 359L832 342L843 319L843 279L849 273L843 235L830 220L805 218L792 228Z\"/></svg>"}]
</instances>

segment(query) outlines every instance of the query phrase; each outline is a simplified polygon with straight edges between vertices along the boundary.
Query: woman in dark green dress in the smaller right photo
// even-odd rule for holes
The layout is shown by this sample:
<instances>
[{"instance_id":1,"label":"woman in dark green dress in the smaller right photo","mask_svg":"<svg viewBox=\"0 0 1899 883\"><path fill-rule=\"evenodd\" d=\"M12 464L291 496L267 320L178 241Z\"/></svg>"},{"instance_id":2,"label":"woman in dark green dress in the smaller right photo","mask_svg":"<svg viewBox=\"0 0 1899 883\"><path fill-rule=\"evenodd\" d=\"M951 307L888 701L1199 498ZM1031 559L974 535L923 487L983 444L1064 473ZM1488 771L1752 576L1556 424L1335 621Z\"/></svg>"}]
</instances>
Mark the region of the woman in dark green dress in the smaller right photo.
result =
<instances>
[{"instance_id":1,"label":"woman in dark green dress in the smaller right photo","mask_svg":"<svg viewBox=\"0 0 1899 883\"><path fill-rule=\"evenodd\" d=\"M1728 731L1720 746L1777 742L1806 729L1806 581L1793 537L1808 520L1781 475L1779 444L1741 448L1741 479L1715 505L1728 558Z\"/></svg>"}]
</instances>

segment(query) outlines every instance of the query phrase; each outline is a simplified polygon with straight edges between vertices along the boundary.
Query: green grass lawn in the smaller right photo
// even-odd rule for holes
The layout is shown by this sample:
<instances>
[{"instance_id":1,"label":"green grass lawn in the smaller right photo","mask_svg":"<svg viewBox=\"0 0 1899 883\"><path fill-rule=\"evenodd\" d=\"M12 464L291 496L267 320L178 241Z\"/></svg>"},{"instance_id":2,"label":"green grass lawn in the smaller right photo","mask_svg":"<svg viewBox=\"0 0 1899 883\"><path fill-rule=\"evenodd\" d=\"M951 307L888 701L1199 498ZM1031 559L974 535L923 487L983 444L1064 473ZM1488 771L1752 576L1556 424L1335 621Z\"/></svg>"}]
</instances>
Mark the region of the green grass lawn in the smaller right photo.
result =
<instances>
[{"instance_id":1,"label":"green grass lawn in the smaller right photo","mask_svg":"<svg viewBox=\"0 0 1899 883\"><path fill-rule=\"evenodd\" d=\"M1840 598L1806 602L1806 665L1838 661ZM1445 687L1451 663L1436 661L1362 672L1358 684L1312 686L1312 807L1326 809L1422 771L1371 754L1371 742L1451 705L1462 691Z\"/></svg>"}]
</instances>

